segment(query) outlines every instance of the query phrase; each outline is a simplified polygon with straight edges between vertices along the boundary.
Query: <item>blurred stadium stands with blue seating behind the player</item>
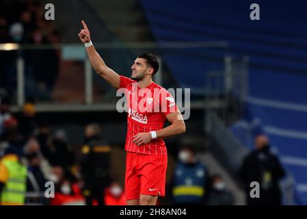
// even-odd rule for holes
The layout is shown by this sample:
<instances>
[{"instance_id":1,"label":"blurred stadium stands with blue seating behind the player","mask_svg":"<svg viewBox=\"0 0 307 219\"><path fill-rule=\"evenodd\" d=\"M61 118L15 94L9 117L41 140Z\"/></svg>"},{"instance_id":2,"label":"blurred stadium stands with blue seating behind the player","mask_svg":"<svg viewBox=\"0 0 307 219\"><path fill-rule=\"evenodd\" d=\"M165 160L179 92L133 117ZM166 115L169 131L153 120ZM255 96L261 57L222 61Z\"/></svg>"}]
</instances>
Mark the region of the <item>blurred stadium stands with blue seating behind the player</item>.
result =
<instances>
[{"instance_id":1,"label":"blurred stadium stands with blue seating behind the player","mask_svg":"<svg viewBox=\"0 0 307 219\"><path fill-rule=\"evenodd\" d=\"M0 95L17 118L34 102L37 123L64 130L77 157L85 125L98 123L123 185L126 115L116 112L115 90L89 66L77 38L84 19L116 72L129 75L135 56L152 51L162 63L158 83L191 88L187 133L166 140L168 183L178 147L193 142L244 204L236 172L261 131L287 171L284 204L306 205L306 1L257 1L260 21L250 20L252 1L31 2L0 3ZM55 5L55 21L44 20L46 3Z\"/></svg>"}]
</instances>

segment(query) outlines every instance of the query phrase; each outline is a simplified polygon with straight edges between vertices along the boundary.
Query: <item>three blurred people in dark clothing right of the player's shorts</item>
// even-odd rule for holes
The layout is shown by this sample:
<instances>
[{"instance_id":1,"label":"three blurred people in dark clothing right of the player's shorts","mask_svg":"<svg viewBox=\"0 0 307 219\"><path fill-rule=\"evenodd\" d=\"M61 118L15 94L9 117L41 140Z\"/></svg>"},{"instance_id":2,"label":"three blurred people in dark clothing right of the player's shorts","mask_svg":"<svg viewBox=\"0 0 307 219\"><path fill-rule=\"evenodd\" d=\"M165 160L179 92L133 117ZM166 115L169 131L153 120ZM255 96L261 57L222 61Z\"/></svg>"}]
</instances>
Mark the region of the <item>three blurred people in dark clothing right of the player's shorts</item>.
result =
<instances>
[{"instance_id":1,"label":"three blurred people in dark clothing right of the player's shorts","mask_svg":"<svg viewBox=\"0 0 307 219\"><path fill-rule=\"evenodd\" d=\"M280 180L286 177L286 171L271 152L269 138L264 133L254 137L254 146L232 177L243 191L245 204L282 205ZM222 175L211 175L207 166L197 159L193 145L183 145L178 159L172 181L174 204L235 205L229 181L226 183Z\"/></svg>"}]
</instances>

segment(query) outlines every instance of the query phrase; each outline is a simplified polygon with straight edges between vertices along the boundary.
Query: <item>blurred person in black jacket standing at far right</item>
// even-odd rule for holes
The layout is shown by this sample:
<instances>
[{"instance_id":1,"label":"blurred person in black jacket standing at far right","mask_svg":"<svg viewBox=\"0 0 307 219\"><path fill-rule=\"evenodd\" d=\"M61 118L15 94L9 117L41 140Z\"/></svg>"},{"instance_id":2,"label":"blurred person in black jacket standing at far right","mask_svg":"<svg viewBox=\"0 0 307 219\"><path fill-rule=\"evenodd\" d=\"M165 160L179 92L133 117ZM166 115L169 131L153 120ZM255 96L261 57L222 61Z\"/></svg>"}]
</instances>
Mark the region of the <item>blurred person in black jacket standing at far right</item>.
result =
<instances>
[{"instance_id":1,"label":"blurred person in black jacket standing at far right","mask_svg":"<svg viewBox=\"0 0 307 219\"><path fill-rule=\"evenodd\" d=\"M245 185L248 205L281 205L282 194L278 181L286 174L278 157L269 149L267 136L261 134L255 138L256 150L245 159L239 170L239 177ZM256 181L260 185L259 198L250 196L250 183Z\"/></svg>"}]
</instances>

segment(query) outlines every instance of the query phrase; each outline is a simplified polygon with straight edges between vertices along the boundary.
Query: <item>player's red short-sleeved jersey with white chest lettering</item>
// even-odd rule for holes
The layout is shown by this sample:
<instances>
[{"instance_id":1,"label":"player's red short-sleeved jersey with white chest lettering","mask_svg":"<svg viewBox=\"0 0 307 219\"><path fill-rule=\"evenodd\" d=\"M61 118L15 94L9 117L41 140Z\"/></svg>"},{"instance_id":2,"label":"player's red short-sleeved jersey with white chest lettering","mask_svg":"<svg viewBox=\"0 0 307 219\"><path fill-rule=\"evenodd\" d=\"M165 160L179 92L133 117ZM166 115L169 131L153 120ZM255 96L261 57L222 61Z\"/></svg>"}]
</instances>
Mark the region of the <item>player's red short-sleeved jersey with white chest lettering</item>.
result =
<instances>
[{"instance_id":1,"label":"player's red short-sleeved jersey with white chest lettering","mask_svg":"<svg viewBox=\"0 0 307 219\"><path fill-rule=\"evenodd\" d=\"M133 136L163 129L165 116L177 110L172 95L157 83L152 82L146 88L139 88L136 81L123 76L120 76L120 88L126 88L124 94L128 107L125 150L146 155L167 154L162 139L137 146Z\"/></svg>"}]
</instances>

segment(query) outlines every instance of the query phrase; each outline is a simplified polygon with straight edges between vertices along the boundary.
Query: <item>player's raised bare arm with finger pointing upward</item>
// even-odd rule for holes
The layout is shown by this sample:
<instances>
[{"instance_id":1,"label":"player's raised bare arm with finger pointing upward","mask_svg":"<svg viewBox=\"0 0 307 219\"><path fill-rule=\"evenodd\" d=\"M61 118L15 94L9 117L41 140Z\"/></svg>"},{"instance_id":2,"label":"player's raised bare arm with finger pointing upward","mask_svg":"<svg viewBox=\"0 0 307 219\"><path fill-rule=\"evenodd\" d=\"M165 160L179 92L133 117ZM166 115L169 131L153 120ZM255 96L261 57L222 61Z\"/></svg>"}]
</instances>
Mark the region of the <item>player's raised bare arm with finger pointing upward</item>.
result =
<instances>
[{"instance_id":1,"label":"player's raised bare arm with finger pointing upward","mask_svg":"<svg viewBox=\"0 0 307 219\"><path fill-rule=\"evenodd\" d=\"M78 36L83 44L89 43L91 42L90 31L88 30L88 27L84 21L81 23L83 25L83 29L81 29ZM96 73L114 88L120 88L120 75L105 64L101 56L97 53L94 45L91 47L86 47L86 51Z\"/></svg>"}]
</instances>

